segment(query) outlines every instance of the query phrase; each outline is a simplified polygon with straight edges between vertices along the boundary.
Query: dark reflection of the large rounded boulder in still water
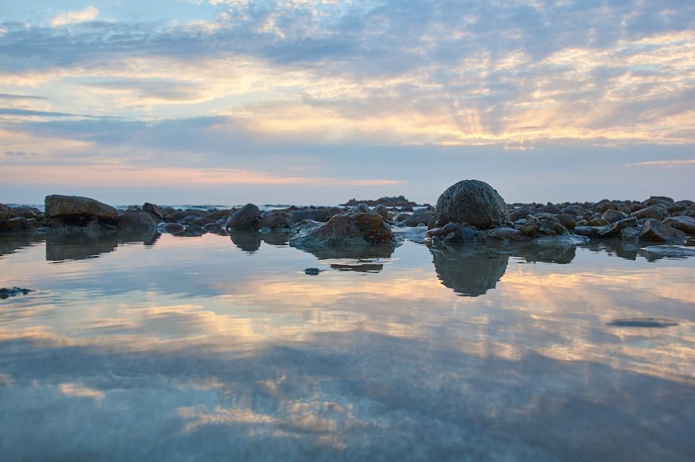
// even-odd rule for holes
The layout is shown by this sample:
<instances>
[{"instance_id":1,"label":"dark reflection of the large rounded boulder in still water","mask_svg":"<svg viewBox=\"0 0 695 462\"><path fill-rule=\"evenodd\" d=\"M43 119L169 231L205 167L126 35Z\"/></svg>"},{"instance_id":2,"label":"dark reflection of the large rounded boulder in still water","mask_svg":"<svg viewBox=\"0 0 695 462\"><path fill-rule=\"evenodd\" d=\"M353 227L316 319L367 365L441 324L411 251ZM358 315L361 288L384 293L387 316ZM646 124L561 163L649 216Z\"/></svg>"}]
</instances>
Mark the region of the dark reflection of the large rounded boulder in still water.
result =
<instances>
[{"instance_id":1,"label":"dark reflection of the large rounded boulder in still water","mask_svg":"<svg viewBox=\"0 0 695 462\"><path fill-rule=\"evenodd\" d=\"M463 296L479 296L494 289L507 269L509 255L475 245L430 248L436 274L445 287Z\"/></svg>"}]
</instances>

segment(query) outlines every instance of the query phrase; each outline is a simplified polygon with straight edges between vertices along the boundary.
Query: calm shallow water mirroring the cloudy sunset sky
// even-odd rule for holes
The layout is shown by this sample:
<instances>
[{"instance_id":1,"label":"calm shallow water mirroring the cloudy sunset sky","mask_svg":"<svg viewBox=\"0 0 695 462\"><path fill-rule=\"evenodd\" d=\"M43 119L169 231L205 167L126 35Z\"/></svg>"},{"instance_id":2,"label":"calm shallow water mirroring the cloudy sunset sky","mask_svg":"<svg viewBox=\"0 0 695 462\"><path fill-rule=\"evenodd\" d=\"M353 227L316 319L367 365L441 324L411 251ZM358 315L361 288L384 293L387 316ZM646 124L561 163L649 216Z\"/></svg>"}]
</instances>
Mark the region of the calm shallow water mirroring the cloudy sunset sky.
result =
<instances>
[{"instance_id":1,"label":"calm shallow water mirroring the cloudy sunset sky","mask_svg":"<svg viewBox=\"0 0 695 462\"><path fill-rule=\"evenodd\" d=\"M315 268L318 271L305 269ZM0 237L3 460L682 460L695 258Z\"/></svg>"}]
</instances>

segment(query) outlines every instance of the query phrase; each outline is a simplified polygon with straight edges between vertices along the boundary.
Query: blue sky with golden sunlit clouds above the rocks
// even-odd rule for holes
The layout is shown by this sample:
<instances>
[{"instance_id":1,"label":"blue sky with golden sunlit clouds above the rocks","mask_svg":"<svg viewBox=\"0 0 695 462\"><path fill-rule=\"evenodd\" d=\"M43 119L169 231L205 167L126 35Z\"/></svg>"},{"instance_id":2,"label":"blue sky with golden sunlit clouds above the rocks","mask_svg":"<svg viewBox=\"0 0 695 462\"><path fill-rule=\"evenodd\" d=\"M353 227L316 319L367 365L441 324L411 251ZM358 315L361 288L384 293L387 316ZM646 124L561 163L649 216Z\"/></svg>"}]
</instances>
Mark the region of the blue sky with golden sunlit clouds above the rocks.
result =
<instances>
[{"instance_id":1,"label":"blue sky with golden sunlit clouds above the rocks","mask_svg":"<svg viewBox=\"0 0 695 462\"><path fill-rule=\"evenodd\" d=\"M0 202L695 200L695 3L0 6Z\"/></svg>"}]
</instances>

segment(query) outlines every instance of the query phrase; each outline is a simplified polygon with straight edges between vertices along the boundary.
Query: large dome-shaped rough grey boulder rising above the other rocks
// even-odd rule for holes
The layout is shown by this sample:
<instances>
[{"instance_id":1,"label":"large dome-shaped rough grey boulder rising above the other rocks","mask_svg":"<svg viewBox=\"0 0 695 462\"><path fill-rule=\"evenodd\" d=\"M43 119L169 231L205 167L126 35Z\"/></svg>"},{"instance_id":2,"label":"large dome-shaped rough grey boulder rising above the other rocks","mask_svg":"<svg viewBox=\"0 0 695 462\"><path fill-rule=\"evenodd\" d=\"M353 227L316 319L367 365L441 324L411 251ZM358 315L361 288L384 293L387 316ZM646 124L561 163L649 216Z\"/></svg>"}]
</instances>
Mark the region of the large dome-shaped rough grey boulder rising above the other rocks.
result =
<instances>
[{"instance_id":1,"label":"large dome-shaped rough grey boulder rising above the other rocks","mask_svg":"<svg viewBox=\"0 0 695 462\"><path fill-rule=\"evenodd\" d=\"M507 204L492 186L479 180L463 180L437 199L432 228L447 223L468 223L484 230L505 226L507 222Z\"/></svg>"}]
</instances>

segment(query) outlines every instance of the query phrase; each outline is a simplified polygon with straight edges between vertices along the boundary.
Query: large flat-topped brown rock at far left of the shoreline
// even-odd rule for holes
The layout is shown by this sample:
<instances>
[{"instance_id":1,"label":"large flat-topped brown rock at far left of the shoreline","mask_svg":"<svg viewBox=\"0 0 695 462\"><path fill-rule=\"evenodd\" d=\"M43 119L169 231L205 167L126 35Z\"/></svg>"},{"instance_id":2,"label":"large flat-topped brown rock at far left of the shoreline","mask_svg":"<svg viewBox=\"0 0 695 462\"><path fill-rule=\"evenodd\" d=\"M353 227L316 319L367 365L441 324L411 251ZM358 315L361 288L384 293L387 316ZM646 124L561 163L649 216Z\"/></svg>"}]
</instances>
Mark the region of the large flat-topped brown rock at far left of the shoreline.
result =
<instances>
[{"instance_id":1,"label":"large flat-topped brown rock at far left of the shoreline","mask_svg":"<svg viewBox=\"0 0 695 462\"><path fill-rule=\"evenodd\" d=\"M46 217L53 223L85 226L97 221L99 224L115 225L118 212L111 205L80 196L46 196Z\"/></svg>"}]
</instances>

